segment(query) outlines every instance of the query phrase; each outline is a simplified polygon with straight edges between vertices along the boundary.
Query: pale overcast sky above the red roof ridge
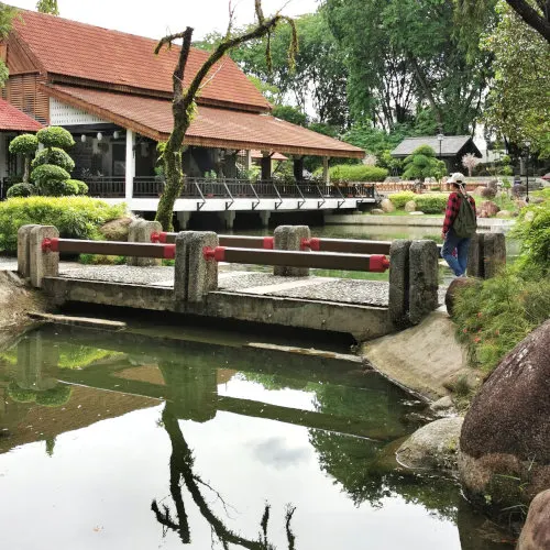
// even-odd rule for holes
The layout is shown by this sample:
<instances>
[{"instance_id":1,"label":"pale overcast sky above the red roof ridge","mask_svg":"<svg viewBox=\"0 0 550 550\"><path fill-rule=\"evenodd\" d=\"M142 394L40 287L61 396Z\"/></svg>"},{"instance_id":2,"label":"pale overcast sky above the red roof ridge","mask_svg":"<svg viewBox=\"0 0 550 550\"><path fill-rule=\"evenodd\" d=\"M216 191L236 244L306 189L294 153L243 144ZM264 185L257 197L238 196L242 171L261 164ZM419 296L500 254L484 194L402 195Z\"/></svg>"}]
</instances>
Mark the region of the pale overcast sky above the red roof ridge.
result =
<instances>
[{"instance_id":1,"label":"pale overcast sky above the red roof ridge","mask_svg":"<svg viewBox=\"0 0 550 550\"><path fill-rule=\"evenodd\" d=\"M36 0L11 0L11 6L34 10ZM160 38L166 31L195 29L195 38L228 25L228 0L58 0L62 18L117 31ZM299 15L316 10L318 0L263 0L264 13ZM238 24L253 22L254 0L233 0Z\"/></svg>"}]
</instances>

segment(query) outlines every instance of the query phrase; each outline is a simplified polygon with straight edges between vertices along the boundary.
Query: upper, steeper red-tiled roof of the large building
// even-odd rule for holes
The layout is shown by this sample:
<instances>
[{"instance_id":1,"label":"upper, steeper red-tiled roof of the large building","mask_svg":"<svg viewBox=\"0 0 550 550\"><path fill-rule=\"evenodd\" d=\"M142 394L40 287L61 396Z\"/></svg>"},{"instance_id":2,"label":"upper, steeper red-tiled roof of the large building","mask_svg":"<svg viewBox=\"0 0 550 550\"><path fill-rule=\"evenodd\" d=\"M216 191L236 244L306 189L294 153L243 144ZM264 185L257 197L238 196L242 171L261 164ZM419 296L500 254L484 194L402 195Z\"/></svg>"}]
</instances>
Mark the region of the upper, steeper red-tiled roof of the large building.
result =
<instances>
[{"instance_id":1,"label":"upper, steeper red-tiled roof of the large building","mask_svg":"<svg viewBox=\"0 0 550 550\"><path fill-rule=\"evenodd\" d=\"M16 35L41 68L53 75L103 85L172 94L179 47L154 55L156 41L32 11L14 20ZM161 37L161 36L160 36ZM193 48L184 84L189 84L208 53ZM270 103L229 57L217 64L199 102L239 105L257 111ZM208 80L208 77L207 77Z\"/></svg>"}]
</instances>

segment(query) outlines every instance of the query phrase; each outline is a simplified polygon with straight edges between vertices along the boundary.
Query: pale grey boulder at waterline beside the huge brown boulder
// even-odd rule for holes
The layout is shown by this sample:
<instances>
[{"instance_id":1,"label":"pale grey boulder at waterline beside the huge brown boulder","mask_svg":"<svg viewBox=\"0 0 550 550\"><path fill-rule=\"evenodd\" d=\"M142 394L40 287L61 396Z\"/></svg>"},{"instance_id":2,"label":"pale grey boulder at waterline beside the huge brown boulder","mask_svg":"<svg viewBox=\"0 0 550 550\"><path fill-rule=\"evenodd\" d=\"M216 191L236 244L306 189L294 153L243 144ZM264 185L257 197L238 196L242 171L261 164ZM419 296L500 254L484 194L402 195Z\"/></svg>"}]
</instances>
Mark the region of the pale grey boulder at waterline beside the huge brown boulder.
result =
<instances>
[{"instance_id":1,"label":"pale grey boulder at waterline beside the huge brown boulder","mask_svg":"<svg viewBox=\"0 0 550 550\"><path fill-rule=\"evenodd\" d=\"M397 449L397 461L414 470L457 470L463 418L441 418L415 431Z\"/></svg>"}]
</instances>

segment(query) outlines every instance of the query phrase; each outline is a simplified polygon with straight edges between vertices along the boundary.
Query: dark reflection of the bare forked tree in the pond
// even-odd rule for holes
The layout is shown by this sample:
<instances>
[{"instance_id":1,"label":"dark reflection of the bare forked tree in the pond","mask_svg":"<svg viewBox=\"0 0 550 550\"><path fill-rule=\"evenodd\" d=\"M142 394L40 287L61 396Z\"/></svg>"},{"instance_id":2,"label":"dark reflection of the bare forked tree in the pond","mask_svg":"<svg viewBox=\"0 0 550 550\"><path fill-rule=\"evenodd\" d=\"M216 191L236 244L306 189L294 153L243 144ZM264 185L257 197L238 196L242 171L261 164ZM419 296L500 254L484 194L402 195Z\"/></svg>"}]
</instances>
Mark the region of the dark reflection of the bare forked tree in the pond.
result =
<instances>
[{"instance_id":1,"label":"dark reflection of the bare forked tree in the pond","mask_svg":"<svg viewBox=\"0 0 550 550\"><path fill-rule=\"evenodd\" d=\"M202 486L212 491L221 501L224 508L226 503L218 492L216 492L212 487L210 487L210 485L205 483L194 473L193 452L182 433L177 417L172 410L172 405L169 403L166 404L163 411L163 425L172 441L172 455L169 460L169 491L176 508L176 517L173 517L170 509L166 505L163 505L163 509L161 510L158 503L155 499L151 505L151 509L154 512L158 522L161 522L165 529L172 529L177 532L184 544L190 543L190 528L180 486L180 481L183 481L200 514L209 522L212 534L216 535L224 549L229 549L229 544L231 543L250 550L275 550L275 547L267 539L270 505L266 504L264 508L264 514L260 524L261 532L257 540L240 537L226 527L223 521L210 509L210 506L202 496L200 487ZM295 550L295 537L290 529L290 521L294 512L295 508L290 506L286 510L288 550Z\"/></svg>"}]
</instances>

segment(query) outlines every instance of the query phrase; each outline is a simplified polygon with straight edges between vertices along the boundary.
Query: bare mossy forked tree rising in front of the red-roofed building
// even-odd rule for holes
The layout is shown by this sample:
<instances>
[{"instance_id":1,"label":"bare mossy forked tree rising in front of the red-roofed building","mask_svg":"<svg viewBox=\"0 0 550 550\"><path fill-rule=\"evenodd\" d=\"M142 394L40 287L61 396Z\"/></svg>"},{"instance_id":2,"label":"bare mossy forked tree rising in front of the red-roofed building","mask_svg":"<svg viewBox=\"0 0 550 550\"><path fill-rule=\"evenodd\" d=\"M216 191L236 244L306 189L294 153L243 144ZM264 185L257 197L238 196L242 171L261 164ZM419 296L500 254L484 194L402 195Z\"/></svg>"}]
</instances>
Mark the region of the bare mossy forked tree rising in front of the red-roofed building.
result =
<instances>
[{"instance_id":1,"label":"bare mossy forked tree rising in front of the red-roofed building","mask_svg":"<svg viewBox=\"0 0 550 550\"><path fill-rule=\"evenodd\" d=\"M289 46L290 65L293 64L295 53L298 48L298 37L294 20L282 15L280 13L276 13L271 18L265 18L262 9L262 0L254 0L254 8L257 19L256 25L244 33L234 35L231 32L232 18L230 16L230 23L226 36L194 75L189 86L186 88L184 88L184 78L191 47L194 29L188 26L182 33L165 36L156 46L155 53L158 54L163 47L170 47L174 41L183 38L178 63L173 75L174 100L172 103L172 113L174 117L174 129L168 138L168 141L166 142L163 153L166 185L161 200L158 201L158 209L155 218L156 221L161 222L165 231L170 231L173 229L172 218L174 216L174 204L184 187L182 150L184 147L185 134L187 133L193 118L195 117L197 108L195 100L210 70L213 69L216 64L231 50L251 40L271 35L275 32L277 26L285 22L289 24L293 31ZM267 52L267 58L270 58L270 52Z\"/></svg>"}]
</instances>

